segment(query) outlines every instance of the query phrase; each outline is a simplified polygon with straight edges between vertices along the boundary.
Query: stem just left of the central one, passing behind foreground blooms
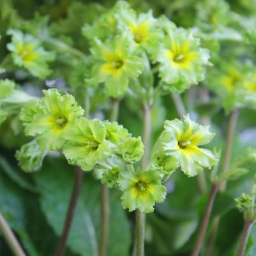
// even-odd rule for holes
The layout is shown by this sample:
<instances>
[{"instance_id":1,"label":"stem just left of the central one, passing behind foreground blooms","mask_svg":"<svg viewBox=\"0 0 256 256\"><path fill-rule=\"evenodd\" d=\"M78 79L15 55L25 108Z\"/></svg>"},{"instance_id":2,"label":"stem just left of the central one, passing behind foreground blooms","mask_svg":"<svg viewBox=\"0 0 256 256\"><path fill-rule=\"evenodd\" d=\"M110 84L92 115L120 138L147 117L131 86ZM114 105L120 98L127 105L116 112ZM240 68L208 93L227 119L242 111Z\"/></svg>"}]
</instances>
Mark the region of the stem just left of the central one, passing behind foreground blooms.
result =
<instances>
[{"instance_id":1,"label":"stem just left of the central one, passing behind foreground blooms","mask_svg":"<svg viewBox=\"0 0 256 256\"><path fill-rule=\"evenodd\" d=\"M119 98L112 98L112 108L110 112L110 121L114 122L118 119L119 114ZM107 255L107 246L109 244L109 188L102 184L101 186L101 217L102 217L102 231L100 236L100 254L99 256Z\"/></svg>"}]
</instances>

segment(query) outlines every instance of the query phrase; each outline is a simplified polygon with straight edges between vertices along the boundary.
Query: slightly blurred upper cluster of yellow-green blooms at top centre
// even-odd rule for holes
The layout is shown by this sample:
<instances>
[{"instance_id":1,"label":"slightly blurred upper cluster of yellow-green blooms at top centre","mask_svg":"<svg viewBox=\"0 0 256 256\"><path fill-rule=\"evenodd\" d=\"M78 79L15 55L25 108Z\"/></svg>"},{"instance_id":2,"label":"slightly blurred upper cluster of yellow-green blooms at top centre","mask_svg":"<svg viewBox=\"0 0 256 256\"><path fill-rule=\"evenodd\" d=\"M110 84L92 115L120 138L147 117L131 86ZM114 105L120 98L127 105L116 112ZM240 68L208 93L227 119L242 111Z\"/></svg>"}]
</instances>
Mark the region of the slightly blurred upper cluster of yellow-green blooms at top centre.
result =
<instances>
[{"instance_id":1,"label":"slightly blurred upper cluster of yellow-green blooms at top centre","mask_svg":"<svg viewBox=\"0 0 256 256\"><path fill-rule=\"evenodd\" d=\"M137 15L124 1L82 31L90 41L94 63L86 82L105 84L107 94L115 98L123 96L143 73L151 72L148 61L151 66L158 63L158 85L178 93L204 80L210 64L209 51L200 48L192 31L177 28L164 16L156 19L152 11Z\"/></svg>"}]
</instances>

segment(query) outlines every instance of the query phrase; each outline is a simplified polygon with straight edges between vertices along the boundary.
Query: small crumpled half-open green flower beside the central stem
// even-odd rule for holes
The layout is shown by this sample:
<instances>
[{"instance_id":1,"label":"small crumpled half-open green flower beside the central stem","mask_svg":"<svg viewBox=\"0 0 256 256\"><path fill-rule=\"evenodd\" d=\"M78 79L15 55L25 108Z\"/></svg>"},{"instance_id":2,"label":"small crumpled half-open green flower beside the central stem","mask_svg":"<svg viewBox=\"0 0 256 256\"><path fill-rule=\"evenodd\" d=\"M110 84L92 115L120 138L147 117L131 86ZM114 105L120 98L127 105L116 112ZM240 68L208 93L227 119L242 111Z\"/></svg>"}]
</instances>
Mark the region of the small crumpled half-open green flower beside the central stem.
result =
<instances>
[{"instance_id":1,"label":"small crumpled half-open green flower beside the central stem","mask_svg":"<svg viewBox=\"0 0 256 256\"><path fill-rule=\"evenodd\" d=\"M136 163L142 158L144 144L141 137L129 138L119 146L118 154L126 163Z\"/></svg>"}]
</instances>

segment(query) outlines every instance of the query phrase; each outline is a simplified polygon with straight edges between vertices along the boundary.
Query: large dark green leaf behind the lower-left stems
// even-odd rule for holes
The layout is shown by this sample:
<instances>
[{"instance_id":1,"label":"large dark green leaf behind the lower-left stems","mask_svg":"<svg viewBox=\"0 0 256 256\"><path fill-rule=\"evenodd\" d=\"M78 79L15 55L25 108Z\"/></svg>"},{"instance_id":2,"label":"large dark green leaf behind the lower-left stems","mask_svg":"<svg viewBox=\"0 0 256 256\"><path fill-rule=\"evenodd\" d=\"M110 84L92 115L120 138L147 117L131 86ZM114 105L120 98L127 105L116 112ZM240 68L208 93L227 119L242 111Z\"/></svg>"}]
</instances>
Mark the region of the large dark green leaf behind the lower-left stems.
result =
<instances>
[{"instance_id":1,"label":"large dark green leaf behind the lower-left stems","mask_svg":"<svg viewBox=\"0 0 256 256\"><path fill-rule=\"evenodd\" d=\"M47 161L48 160L48 161ZM60 236L72 193L73 168L63 160L47 159L41 172L33 174L41 193L40 204L54 232ZM53 194L54 193L54 194ZM84 183L75 210L68 248L82 256L96 256L100 236L100 184L89 174L84 174ZM118 200L117 200L118 199ZM130 232L128 222L119 202L119 195L110 197L110 244L109 256L128 255ZM116 223L119 223L116 225ZM122 230L126 230L122 232ZM122 232L122 236L120 236Z\"/></svg>"}]
</instances>

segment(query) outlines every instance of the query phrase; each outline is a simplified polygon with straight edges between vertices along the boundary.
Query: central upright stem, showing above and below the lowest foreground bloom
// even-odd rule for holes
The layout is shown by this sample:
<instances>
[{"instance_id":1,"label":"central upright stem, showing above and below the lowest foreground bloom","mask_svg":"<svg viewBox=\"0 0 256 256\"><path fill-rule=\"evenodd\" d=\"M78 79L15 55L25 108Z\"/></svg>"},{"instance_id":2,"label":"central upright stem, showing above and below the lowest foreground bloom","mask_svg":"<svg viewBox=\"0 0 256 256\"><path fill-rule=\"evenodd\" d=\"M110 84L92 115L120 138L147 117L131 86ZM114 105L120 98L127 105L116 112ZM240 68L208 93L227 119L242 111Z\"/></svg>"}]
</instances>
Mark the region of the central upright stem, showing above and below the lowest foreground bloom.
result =
<instances>
[{"instance_id":1,"label":"central upright stem, showing above and below the lowest foreground bloom","mask_svg":"<svg viewBox=\"0 0 256 256\"><path fill-rule=\"evenodd\" d=\"M147 169L149 163L150 144L151 144L151 107L146 105L143 111L143 134L142 141L144 143L144 154L140 162L142 170ZM146 216L144 213L136 210L136 229L133 255L144 256L144 239L145 239L145 222ZM136 253L134 253L136 252Z\"/></svg>"}]
</instances>

